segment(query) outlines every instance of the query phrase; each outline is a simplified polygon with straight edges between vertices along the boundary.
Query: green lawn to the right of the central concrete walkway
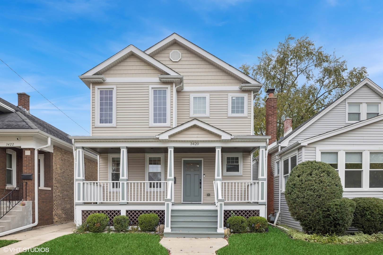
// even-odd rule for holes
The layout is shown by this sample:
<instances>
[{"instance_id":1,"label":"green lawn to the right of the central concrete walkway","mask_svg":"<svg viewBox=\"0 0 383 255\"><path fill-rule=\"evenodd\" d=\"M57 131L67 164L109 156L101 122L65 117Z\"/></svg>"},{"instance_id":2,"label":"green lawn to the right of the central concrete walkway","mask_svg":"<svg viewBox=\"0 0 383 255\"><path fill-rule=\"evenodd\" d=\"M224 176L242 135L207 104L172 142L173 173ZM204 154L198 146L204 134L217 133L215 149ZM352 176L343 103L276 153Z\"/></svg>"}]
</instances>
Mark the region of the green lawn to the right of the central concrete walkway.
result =
<instances>
[{"instance_id":1,"label":"green lawn to the right of the central concrete walkway","mask_svg":"<svg viewBox=\"0 0 383 255\"><path fill-rule=\"evenodd\" d=\"M291 239L278 228L269 227L268 233L235 234L229 245L217 255L377 255L383 254L383 242L369 244L317 244Z\"/></svg>"}]
</instances>

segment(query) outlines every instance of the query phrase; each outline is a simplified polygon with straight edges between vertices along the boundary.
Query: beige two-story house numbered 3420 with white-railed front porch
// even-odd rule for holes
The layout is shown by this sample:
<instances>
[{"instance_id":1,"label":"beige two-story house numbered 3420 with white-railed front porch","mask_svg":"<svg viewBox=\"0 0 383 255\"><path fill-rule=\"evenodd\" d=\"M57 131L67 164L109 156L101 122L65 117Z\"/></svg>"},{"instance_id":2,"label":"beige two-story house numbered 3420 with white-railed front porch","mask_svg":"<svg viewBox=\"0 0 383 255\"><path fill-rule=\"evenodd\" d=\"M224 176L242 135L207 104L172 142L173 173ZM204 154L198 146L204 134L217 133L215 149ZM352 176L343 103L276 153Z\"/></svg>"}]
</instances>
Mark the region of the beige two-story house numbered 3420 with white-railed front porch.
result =
<instances>
[{"instance_id":1,"label":"beige two-story house numbered 3420 with white-railed front porch","mask_svg":"<svg viewBox=\"0 0 383 255\"><path fill-rule=\"evenodd\" d=\"M231 212L266 216L270 136L253 134L258 81L178 34L145 51L129 45L79 77L91 135L70 137L77 224L98 211L134 224L152 212L167 237L223 237ZM86 179L84 151L98 155L97 182Z\"/></svg>"}]
</instances>

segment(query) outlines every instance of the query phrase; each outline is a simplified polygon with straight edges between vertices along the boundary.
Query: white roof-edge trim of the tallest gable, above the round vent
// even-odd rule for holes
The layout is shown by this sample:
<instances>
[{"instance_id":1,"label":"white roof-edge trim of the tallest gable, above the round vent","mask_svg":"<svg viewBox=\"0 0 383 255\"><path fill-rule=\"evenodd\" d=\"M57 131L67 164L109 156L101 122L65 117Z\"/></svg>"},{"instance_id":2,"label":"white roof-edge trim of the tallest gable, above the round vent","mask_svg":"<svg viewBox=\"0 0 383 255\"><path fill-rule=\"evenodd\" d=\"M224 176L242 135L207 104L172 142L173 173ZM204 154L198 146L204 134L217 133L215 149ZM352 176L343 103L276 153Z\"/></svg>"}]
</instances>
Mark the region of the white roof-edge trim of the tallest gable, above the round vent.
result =
<instances>
[{"instance_id":1,"label":"white roof-edge trim of the tallest gable, above the round vent","mask_svg":"<svg viewBox=\"0 0 383 255\"><path fill-rule=\"evenodd\" d=\"M253 78L241 72L237 68L232 67L228 63L224 62L223 60L219 59L213 54L210 54L206 50L202 49L201 47L198 47L197 45L193 44L192 42L188 41L182 36L179 36L176 33L173 33L170 36L163 39L162 41L157 42L156 44L154 44L152 47L145 50L144 52L153 57L155 54L166 49L167 47L169 47L170 45L174 43L180 44L182 47L190 50L194 54L198 55L199 57L211 63L212 65L218 67L219 69L225 71L226 73L229 73L229 75L242 81L243 83L261 84L259 83L259 81L254 80Z\"/></svg>"}]
</instances>

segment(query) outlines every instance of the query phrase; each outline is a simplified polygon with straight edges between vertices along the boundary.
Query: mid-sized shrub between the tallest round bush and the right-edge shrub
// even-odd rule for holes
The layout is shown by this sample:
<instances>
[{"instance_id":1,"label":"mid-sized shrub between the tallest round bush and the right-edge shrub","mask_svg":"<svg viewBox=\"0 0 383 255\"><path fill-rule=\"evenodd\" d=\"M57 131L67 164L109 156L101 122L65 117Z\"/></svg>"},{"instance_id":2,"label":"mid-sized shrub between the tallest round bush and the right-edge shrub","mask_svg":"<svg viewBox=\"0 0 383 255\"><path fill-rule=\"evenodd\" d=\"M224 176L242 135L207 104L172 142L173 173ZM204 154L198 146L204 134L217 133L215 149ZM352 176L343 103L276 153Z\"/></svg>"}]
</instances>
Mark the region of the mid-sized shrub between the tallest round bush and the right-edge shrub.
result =
<instances>
[{"instance_id":1,"label":"mid-sized shrub between the tallest round bush and the right-edge shrub","mask_svg":"<svg viewBox=\"0 0 383 255\"><path fill-rule=\"evenodd\" d=\"M326 203L316 212L317 224L314 227L316 234L341 234L352 223L355 202L349 198L334 199Z\"/></svg>"}]
</instances>

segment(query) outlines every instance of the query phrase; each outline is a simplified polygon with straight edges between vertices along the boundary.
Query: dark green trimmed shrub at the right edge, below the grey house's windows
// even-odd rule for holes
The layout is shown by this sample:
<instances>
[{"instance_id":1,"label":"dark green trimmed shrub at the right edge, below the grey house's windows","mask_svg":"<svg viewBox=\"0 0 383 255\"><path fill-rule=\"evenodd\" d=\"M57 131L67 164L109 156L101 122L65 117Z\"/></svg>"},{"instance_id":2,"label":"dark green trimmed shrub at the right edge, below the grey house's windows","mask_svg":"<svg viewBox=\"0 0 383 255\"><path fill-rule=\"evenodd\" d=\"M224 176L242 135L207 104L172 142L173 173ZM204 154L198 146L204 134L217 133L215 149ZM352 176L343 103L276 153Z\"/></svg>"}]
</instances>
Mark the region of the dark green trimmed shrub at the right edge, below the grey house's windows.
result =
<instances>
[{"instance_id":1,"label":"dark green trimmed shrub at the right edge, below the grey house's windows","mask_svg":"<svg viewBox=\"0 0 383 255\"><path fill-rule=\"evenodd\" d=\"M378 233L383 230L383 200L374 197L357 197L352 226L364 234Z\"/></svg>"}]
</instances>

